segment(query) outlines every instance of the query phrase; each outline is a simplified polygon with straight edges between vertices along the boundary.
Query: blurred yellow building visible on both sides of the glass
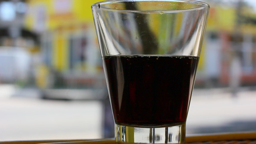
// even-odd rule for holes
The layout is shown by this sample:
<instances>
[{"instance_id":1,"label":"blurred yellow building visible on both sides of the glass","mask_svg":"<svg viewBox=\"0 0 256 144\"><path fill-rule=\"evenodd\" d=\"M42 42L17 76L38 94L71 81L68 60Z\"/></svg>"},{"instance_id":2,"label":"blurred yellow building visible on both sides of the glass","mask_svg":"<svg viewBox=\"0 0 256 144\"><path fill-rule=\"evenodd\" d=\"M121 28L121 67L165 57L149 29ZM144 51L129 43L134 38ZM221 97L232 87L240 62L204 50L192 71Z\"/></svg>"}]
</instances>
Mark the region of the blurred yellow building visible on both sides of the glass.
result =
<instances>
[{"instance_id":1,"label":"blurred yellow building visible on both sides of the glass","mask_svg":"<svg viewBox=\"0 0 256 144\"><path fill-rule=\"evenodd\" d=\"M211 9L196 86L255 85L255 2L201 1L209 3ZM97 79L102 73L102 63L90 8L98 0L27 2L25 25L41 35L43 61L38 69L37 85L40 88L85 88L104 83Z\"/></svg>"}]
</instances>

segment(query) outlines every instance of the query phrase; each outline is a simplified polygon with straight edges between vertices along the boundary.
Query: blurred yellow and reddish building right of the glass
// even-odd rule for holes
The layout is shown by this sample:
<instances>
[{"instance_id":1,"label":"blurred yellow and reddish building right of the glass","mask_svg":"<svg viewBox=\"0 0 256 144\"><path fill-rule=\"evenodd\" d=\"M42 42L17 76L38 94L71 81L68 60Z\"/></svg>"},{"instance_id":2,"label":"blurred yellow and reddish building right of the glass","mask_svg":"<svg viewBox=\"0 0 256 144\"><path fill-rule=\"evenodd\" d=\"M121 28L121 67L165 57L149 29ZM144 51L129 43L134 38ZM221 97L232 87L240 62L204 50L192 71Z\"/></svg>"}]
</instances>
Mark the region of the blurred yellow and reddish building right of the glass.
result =
<instances>
[{"instance_id":1,"label":"blurred yellow and reddish building right of the glass","mask_svg":"<svg viewBox=\"0 0 256 144\"><path fill-rule=\"evenodd\" d=\"M256 3L201 1L211 8L196 85L256 85Z\"/></svg>"}]
</instances>

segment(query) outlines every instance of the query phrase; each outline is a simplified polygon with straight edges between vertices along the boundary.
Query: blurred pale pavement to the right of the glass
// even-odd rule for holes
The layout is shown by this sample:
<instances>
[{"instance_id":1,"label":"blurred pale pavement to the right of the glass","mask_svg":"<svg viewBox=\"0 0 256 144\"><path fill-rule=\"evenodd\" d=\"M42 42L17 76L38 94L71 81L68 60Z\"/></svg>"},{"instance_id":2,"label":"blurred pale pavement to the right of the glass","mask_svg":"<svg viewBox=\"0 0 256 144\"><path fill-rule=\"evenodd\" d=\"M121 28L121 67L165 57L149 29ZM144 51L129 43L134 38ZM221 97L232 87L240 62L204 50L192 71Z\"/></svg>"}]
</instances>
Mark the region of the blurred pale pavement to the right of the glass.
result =
<instances>
[{"instance_id":1,"label":"blurred pale pavement to the right of the glass","mask_svg":"<svg viewBox=\"0 0 256 144\"><path fill-rule=\"evenodd\" d=\"M187 134L256 131L256 89L195 89L187 117Z\"/></svg>"}]
</instances>

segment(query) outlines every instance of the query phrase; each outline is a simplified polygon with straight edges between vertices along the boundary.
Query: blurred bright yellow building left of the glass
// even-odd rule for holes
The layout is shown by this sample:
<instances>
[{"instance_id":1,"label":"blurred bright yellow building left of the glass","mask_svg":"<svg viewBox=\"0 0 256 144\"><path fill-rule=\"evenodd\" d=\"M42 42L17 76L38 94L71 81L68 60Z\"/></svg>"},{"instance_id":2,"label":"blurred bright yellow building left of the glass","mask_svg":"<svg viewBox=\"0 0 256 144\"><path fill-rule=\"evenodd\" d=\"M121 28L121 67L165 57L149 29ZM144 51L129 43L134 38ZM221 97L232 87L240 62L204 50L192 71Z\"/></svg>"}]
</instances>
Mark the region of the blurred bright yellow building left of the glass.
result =
<instances>
[{"instance_id":1,"label":"blurred bright yellow building left of the glass","mask_svg":"<svg viewBox=\"0 0 256 144\"><path fill-rule=\"evenodd\" d=\"M91 10L95 2L98 0L27 1L25 25L40 34L42 61L36 75L39 88L105 88Z\"/></svg>"}]
</instances>

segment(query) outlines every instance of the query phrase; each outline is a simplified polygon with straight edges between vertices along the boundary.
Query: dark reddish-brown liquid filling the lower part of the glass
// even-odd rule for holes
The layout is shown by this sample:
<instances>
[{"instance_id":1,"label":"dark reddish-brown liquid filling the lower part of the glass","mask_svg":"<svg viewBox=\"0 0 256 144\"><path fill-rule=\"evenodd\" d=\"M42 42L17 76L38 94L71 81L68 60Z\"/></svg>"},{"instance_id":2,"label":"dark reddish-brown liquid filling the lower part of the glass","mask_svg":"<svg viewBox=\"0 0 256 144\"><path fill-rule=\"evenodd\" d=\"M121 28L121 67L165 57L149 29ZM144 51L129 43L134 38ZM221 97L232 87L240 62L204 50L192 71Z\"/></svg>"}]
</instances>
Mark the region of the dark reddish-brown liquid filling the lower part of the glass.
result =
<instances>
[{"instance_id":1,"label":"dark reddish-brown liquid filling the lower part of the glass","mask_svg":"<svg viewBox=\"0 0 256 144\"><path fill-rule=\"evenodd\" d=\"M184 123L194 85L195 56L105 56L116 124Z\"/></svg>"}]
</instances>

